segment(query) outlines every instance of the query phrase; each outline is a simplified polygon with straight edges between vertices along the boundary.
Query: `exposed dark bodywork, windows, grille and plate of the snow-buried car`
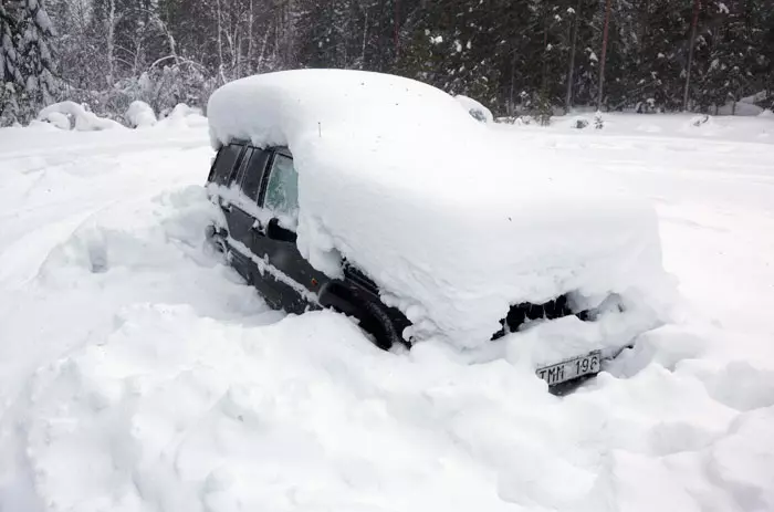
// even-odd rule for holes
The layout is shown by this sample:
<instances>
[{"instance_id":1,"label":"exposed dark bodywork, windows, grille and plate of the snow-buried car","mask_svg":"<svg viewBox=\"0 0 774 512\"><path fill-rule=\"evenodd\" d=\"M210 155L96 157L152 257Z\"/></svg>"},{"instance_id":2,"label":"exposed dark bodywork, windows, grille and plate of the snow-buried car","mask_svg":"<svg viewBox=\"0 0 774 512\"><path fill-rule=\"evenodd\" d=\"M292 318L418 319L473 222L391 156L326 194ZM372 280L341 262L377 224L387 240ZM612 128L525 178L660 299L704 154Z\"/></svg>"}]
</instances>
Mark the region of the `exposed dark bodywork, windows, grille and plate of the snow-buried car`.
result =
<instances>
[{"instance_id":1,"label":"exposed dark bodywork, windows, grille and plate of the snow-buried car","mask_svg":"<svg viewBox=\"0 0 774 512\"><path fill-rule=\"evenodd\" d=\"M377 284L362 270L345 264L344 276L331 279L300 253L295 231L283 226L283 220L293 219L299 209L297 173L289 148L259 148L245 140L222 146L210 168L208 190L224 222L207 227L207 241L269 305L295 314L331 309L356 318L381 349L396 344L411 347L411 339L401 335L409 320L380 300ZM239 194L232 194L234 190ZM595 312L574 311L567 295L543 304L515 304L491 339L517 332L530 321L569 315L589 321ZM536 374L555 386L594 375L600 368L600 351L594 351L537 368Z\"/></svg>"}]
</instances>

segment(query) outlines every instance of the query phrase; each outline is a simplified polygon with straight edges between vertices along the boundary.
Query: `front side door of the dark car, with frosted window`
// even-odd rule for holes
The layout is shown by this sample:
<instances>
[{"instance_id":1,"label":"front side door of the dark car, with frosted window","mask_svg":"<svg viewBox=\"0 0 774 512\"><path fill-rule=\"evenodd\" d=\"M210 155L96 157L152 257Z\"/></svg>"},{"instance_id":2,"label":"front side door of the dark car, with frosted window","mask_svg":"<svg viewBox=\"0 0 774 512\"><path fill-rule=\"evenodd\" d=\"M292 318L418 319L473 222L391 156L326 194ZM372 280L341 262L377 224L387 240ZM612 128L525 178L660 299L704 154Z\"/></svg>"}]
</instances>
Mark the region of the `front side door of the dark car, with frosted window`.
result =
<instances>
[{"instance_id":1,"label":"front side door of the dark car, with frosted window","mask_svg":"<svg viewBox=\"0 0 774 512\"><path fill-rule=\"evenodd\" d=\"M316 305L316 292L328 279L316 271L295 244L299 217L299 175L293 158L281 148L272 151L268 173L261 181L259 206L268 216L260 234L253 238L253 252L269 264L282 307L302 313Z\"/></svg>"}]
</instances>

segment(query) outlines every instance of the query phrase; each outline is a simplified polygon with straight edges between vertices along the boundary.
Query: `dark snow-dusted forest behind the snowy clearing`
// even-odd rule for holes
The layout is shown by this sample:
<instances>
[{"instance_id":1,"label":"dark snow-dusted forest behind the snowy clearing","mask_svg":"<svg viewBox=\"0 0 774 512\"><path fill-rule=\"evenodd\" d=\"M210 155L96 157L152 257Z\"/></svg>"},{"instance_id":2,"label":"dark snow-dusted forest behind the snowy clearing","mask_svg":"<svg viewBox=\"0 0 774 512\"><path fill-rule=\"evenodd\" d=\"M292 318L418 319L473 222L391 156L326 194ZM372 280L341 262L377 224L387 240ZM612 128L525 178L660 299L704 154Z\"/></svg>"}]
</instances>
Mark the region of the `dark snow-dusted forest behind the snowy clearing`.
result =
<instances>
[{"instance_id":1,"label":"dark snow-dusted forest behind the snowy clearing","mask_svg":"<svg viewBox=\"0 0 774 512\"><path fill-rule=\"evenodd\" d=\"M502 116L774 104L774 0L1 1L0 126L63 100L206 108L296 67L409 76Z\"/></svg>"}]
</instances>

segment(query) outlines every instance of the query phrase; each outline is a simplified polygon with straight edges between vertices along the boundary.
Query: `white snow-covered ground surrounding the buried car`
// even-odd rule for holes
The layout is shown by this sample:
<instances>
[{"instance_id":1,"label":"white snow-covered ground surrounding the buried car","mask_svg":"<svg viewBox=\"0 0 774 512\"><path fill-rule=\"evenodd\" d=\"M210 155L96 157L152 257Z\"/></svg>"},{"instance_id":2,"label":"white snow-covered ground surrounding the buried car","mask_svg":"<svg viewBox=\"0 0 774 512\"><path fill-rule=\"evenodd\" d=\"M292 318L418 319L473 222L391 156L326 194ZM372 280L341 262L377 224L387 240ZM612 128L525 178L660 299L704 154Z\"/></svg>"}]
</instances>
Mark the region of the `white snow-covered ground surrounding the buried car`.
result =
<instances>
[{"instance_id":1,"label":"white snow-covered ground surrounding the buried car","mask_svg":"<svg viewBox=\"0 0 774 512\"><path fill-rule=\"evenodd\" d=\"M691 121L493 128L647 194L683 295L563 398L268 311L201 250L201 126L1 129L0 511L774 510L774 119Z\"/></svg>"}]
</instances>

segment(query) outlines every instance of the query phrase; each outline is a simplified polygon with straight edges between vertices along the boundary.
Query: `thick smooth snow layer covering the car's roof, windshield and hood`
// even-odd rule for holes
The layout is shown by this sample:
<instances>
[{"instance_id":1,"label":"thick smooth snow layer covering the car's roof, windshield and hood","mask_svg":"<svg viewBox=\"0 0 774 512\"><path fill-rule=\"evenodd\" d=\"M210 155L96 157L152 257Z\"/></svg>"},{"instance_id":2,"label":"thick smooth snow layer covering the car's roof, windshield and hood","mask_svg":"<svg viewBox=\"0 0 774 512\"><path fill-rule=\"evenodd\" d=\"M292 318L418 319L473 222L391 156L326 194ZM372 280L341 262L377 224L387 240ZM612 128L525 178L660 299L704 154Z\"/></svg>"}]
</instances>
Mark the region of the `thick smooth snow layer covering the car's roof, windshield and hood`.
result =
<instances>
[{"instance_id":1,"label":"thick smooth snow layer covering the car's roof, windshield and hood","mask_svg":"<svg viewBox=\"0 0 774 512\"><path fill-rule=\"evenodd\" d=\"M487 345L510 305L609 293L627 312L597 332L566 325L548 361L620 347L659 321L668 294L656 216L583 163L491 143L491 129L428 85L336 70L227 84L208 105L216 147L286 145L299 170L297 244L330 275L346 258L414 323L416 339ZM556 351L556 352L552 352Z\"/></svg>"}]
</instances>

